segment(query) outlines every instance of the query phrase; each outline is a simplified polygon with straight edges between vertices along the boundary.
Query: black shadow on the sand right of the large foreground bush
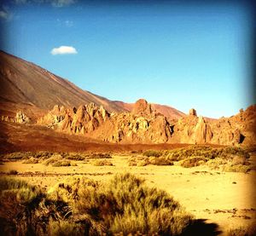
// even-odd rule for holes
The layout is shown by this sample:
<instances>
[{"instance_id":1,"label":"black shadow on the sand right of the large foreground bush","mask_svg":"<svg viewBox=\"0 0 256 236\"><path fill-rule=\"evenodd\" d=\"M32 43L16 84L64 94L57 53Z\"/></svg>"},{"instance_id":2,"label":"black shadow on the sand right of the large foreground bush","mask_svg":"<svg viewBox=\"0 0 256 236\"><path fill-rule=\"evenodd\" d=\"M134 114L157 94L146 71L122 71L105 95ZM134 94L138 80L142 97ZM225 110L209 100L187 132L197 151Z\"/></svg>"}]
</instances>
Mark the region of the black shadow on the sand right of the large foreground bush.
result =
<instances>
[{"instance_id":1,"label":"black shadow on the sand right of the large foreground bush","mask_svg":"<svg viewBox=\"0 0 256 236\"><path fill-rule=\"evenodd\" d=\"M187 227L186 231L182 234L182 236L217 236L220 233L222 232L219 230L218 224L207 223L207 219L198 219L195 220L191 226Z\"/></svg>"}]
</instances>

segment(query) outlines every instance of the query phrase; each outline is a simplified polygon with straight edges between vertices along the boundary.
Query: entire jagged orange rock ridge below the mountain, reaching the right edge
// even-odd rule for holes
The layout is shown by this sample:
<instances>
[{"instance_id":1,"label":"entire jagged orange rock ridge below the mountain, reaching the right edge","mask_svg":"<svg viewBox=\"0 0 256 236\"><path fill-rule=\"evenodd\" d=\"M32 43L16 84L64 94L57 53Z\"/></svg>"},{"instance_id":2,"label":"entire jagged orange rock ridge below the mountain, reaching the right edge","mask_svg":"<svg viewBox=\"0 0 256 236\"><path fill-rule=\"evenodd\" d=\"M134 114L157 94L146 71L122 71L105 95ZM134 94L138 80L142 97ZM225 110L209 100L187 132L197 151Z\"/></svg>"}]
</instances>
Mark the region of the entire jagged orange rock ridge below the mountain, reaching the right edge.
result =
<instances>
[{"instance_id":1,"label":"entire jagged orange rock ridge below the mountain, reaching the right edge","mask_svg":"<svg viewBox=\"0 0 256 236\"><path fill-rule=\"evenodd\" d=\"M109 113L93 103L67 109L55 106L38 124L68 134L120 143L255 144L256 106L231 118L197 117L195 109L184 118L169 120L147 101L137 101L132 112Z\"/></svg>"}]
</instances>

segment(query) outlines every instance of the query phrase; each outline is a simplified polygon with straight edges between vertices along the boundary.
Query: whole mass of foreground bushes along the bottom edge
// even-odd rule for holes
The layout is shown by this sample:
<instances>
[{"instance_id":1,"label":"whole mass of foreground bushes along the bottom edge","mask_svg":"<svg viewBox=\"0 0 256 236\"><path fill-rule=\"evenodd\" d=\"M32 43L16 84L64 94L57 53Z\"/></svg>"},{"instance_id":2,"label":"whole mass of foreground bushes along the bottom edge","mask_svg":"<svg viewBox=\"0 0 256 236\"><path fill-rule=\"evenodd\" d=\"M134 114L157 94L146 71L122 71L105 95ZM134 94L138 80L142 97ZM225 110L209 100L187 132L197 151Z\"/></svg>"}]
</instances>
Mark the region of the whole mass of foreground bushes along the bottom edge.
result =
<instances>
[{"instance_id":1,"label":"whole mass of foreground bushes along the bottom edge","mask_svg":"<svg viewBox=\"0 0 256 236\"><path fill-rule=\"evenodd\" d=\"M193 222L166 192L131 174L114 176L107 185L68 178L48 193L3 178L0 191L0 224L6 235L180 235Z\"/></svg>"}]
</instances>

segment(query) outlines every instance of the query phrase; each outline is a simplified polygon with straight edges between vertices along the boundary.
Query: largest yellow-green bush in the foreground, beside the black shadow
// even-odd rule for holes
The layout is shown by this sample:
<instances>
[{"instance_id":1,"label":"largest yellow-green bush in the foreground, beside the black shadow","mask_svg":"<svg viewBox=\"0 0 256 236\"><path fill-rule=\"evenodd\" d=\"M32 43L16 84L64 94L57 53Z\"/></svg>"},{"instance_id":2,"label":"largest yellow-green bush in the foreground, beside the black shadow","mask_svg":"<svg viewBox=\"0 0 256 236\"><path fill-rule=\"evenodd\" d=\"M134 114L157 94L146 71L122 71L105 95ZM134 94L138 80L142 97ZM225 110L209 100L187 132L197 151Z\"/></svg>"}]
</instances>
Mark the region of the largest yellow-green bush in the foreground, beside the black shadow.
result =
<instances>
[{"instance_id":1,"label":"largest yellow-green bush in the foreground, beside the black shadow","mask_svg":"<svg viewBox=\"0 0 256 236\"><path fill-rule=\"evenodd\" d=\"M169 194L147 187L143 179L131 174L116 175L104 185L86 178L68 178L49 190L49 198L67 202L72 207L70 219L83 220L86 235L138 231L179 235L193 219ZM71 226L72 230L77 227Z\"/></svg>"}]
</instances>

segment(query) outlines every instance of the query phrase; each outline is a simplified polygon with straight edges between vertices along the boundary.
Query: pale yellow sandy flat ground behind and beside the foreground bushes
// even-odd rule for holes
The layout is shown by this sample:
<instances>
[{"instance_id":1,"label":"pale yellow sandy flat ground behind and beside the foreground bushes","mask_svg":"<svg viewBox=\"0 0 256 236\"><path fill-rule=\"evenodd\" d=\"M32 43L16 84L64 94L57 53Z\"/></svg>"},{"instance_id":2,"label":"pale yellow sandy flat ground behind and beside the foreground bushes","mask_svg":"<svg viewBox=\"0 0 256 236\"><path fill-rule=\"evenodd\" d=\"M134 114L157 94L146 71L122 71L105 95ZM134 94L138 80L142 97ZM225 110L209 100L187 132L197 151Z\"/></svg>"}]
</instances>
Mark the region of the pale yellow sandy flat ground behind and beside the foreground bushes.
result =
<instances>
[{"instance_id":1,"label":"pale yellow sandy flat ground behind and beside the foreground bushes","mask_svg":"<svg viewBox=\"0 0 256 236\"><path fill-rule=\"evenodd\" d=\"M94 166L94 160L89 163L77 161L78 166L70 167L8 162L0 165L0 171L17 170L17 176L48 189L67 176L84 175L108 181L115 173L131 172L145 178L148 186L166 190L196 218L217 223L222 235L230 228L255 224L255 170L244 174L209 170L207 166L189 169L177 165L134 167L128 166L128 158L114 155L113 166Z\"/></svg>"}]
</instances>

